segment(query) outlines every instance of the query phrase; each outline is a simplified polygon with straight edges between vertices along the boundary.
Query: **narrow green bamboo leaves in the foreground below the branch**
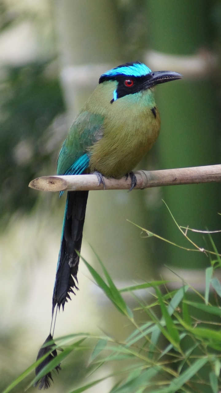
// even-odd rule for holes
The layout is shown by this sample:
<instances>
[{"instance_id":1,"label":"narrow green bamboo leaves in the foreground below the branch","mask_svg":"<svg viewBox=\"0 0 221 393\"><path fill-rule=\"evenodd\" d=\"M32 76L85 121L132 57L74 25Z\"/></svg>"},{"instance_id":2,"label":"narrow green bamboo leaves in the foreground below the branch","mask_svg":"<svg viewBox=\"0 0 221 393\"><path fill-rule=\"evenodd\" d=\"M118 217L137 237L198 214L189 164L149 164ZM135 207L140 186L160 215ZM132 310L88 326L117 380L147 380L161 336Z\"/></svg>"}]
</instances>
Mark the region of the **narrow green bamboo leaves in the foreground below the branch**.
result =
<instances>
[{"instance_id":1,"label":"narrow green bamboo leaves in the foreground below the branch","mask_svg":"<svg viewBox=\"0 0 221 393\"><path fill-rule=\"evenodd\" d=\"M98 255L103 277L82 257L96 284L123 314L125 322L133 326L133 332L125 340L115 340L108 334L98 336L82 332L57 338L56 344L52 342L52 349L61 352L33 378L28 387L56 365L62 364L70 354L88 353L89 350L90 360L85 373L96 375L100 367L108 364L112 365L113 371L103 378L95 376L93 381L79 388L73 387L71 393L87 391L110 376L115 378L115 384L109 393L218 393L221 389L221 285L214 274L221 268L221 255L209 232L206 235L210 241L210 250L204 250L192 241L186 228L179 226L176 221L175 224L190 244L186 248L186 255L203 252L210 259L210 267L205 270L204 296L184 280L176 290L171 290L169 282L163 280L118 290ZM153 232L140 229L150 238L158 237ZM214 289L214 297L209 296L210 286ZM141 292L136 292L148 288L151 288L151 301L146 301ZM125 292L129 292L136 302L133 309L123 298ZM141 323L136 321L137 312L142 312ZM19 382L24 381L35 366L36 363L31 365L3 393L9 393ZM58 380L59 377L56 378ZM75 385L74 378L72 382Z\"/></svg>"}]
</instances>

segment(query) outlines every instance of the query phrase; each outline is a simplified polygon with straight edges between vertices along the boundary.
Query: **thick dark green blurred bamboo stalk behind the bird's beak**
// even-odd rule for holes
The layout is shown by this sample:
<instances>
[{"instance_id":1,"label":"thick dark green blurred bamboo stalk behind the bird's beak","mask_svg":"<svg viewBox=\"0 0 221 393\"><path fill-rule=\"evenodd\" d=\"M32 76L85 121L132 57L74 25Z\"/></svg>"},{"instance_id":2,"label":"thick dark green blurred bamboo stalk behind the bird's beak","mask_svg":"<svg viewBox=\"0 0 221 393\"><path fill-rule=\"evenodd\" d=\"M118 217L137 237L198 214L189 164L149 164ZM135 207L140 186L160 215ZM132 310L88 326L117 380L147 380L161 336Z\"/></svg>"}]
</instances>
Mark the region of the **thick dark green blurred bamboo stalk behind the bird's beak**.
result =
<instances>
[{"instance_id":1,"label":"thick dark green blurred bamboo stalk behind the bird's beak","mask_svg":"<svg viewBox=\"0 0 221 393\"><path fill-rule=\"evenodd\" d=\"M161 132L158 138L160 168L196 167L219 164L219 135L217 127L217 92L214 66L202 67L196 54L209 51L214 39L211 26L212 2L209 0L146 0L149 26L149 48L155 51L166 66L181 56L189 58L189 67L198 69L197 78L183 79L180 83L166 83L156 89L156 102L160 111ZM208 48L208 49L204 49ZM157 56L159 61L159 56ZM153 60L153 56L152 56ZM156 57L155 57L156 61ZM186 61L185 61L186 64ZM149 65L149 63L148 63ZM150 66L150 65L149 65ZM159 69L161 66L158 64ZM173 65L171 65L173 67ZM175 66L175 64L174 64ZM175 68L180 69L178 68ZM204 72L202 72L204 70ZM201 73L201 78L199 74ZM204 73L204 77L202 75ZM192 75L193 76L193 75ZM195 73L196 77L196 73ZM166 86L167 85L167 86ZM183 226L192 228L219 228L220 185L184 185L183 187L164 187L163 198L172 210L174 217ZM171 225L171 217L165 208L160 214L160 235L184 246L186 239L180 238L177 228ZM194 235L197 241L197 235ZM217 248L221 242L214 235ZM162 250L162 246L158 248ZM206 255L186 254L178 247L164 245L160 254L163 263L169 266L196 269L208 266Z\"/></svg>"}]
</instances>

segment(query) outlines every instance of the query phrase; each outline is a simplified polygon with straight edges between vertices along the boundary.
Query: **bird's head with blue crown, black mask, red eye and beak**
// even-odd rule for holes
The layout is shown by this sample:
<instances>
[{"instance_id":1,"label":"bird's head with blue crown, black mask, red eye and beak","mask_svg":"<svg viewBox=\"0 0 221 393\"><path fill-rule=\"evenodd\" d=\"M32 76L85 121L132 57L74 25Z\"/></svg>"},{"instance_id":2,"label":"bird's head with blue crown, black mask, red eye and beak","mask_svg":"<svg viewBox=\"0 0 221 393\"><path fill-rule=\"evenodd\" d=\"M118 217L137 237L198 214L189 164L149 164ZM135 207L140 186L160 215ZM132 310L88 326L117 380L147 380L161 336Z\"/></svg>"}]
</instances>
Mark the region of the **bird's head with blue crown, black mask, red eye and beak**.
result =
<instances>
[{"instance_id":1,"label":"bird's head with blue crown, black mask, red eye and beak","mask_svg":"<svg viewBox=\"0 0 221 393\"><path fill-rule=\"evenodd\" d=\"M103 73L99 79L99 84L106 81L115 81L116 87L110 101L110 103L113 103L125 95L144 92L157 84L175 81L182 77L183 75L174 71L152 72L145 64L136 61L122 64Z\"/></svg>"}]
</instances>

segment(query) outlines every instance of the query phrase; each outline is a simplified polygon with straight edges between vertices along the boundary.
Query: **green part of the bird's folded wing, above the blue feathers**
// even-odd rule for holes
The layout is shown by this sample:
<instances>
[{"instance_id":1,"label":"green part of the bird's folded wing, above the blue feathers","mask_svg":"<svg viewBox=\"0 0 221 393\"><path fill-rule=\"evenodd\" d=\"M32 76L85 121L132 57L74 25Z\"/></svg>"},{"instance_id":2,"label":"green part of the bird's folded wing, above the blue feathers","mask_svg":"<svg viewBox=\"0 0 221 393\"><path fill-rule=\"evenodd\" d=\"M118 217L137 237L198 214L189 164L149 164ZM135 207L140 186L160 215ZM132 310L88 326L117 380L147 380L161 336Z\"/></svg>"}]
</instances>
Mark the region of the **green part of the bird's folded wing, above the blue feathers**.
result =
<instances>
[{"instance_id":1,"label":"green part of the bird's folded wing, above the blue feathers","mask_svg":"<svg viewBox=\"0 0 221 393\"><path fill-rule=\"evenodd\" d=\"M57 174L62 175L88 148L103 136L104 116L83 112L74 120L57 160Z\"/></svg>"}]
</instances>

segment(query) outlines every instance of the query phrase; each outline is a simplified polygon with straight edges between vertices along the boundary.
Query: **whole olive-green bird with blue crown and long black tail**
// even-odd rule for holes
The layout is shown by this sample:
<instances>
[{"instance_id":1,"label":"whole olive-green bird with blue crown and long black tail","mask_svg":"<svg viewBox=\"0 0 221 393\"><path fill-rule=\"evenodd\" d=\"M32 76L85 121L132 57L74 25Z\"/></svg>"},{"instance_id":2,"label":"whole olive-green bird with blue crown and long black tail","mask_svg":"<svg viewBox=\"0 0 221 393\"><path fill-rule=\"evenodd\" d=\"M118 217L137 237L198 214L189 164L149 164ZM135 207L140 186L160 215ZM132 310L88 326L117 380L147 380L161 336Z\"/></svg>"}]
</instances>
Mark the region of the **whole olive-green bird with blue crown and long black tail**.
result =
<instances>
[{"instance_id":1,"label":"whole olive-green bird with blue crown and long black tail","mask_svg":"<svg viewBox=\"0 0 221 393\"><path fill-rule=\"evenodd\" d=\"M95 173L99 184L106 178L130 176L136 186L134 167L151 149L160 132L160 115L155 103L156 85L181 79L173 71L152 72L139 61L121 64L99 78L99 83L73 121L57 160L58 175ZM60 196L63 192L60 193ZM56 308L64 310L71 293L76 293L79 253L88 191L68 191L64 211L61 247L52 299L52 320ZM56 316L55 316L56 318ZM52 325L51 325L52 329ZM46 345L50 342L50 345ZM52 349L53 332L40 349L37 360ZM36 368L36 375L57 356L56 350ZM60 365L55 367L57 372ZM50 387L51 373L35 386Z\"/></svg>"}]
</instances>

